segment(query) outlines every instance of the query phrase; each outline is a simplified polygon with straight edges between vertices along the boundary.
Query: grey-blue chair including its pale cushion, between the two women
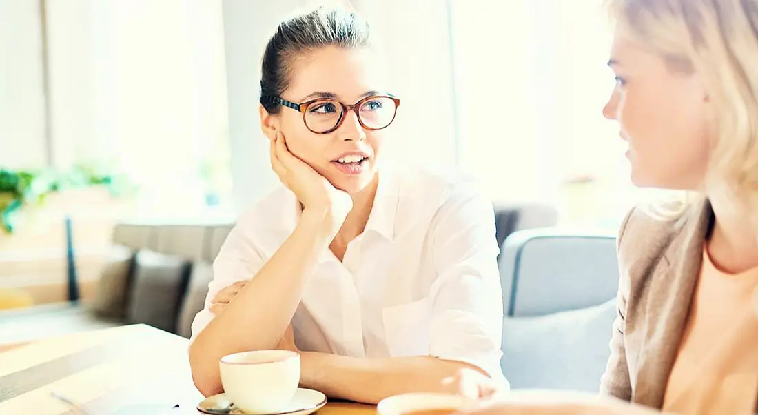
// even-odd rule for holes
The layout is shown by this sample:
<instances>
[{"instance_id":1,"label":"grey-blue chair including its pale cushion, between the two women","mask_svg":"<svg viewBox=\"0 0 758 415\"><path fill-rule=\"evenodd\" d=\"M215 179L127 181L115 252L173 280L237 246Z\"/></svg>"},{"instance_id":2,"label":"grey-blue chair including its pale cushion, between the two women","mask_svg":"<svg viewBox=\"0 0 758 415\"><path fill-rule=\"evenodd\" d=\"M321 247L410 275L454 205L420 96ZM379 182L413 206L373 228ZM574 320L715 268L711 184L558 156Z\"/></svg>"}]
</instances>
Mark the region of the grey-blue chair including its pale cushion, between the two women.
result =
<instances>
[{"instance_id":1,"label":"grey-blue chair including its pale cushion, between the two women","mask_svg":"<svg viewBox=\"0 0 758 415\"><path fill-rule=\"evenodd\" d=\"M612 234L516 231L503 244L503 373L512 388L597 392L616 316Z\"/></svg>"}]
</instances>

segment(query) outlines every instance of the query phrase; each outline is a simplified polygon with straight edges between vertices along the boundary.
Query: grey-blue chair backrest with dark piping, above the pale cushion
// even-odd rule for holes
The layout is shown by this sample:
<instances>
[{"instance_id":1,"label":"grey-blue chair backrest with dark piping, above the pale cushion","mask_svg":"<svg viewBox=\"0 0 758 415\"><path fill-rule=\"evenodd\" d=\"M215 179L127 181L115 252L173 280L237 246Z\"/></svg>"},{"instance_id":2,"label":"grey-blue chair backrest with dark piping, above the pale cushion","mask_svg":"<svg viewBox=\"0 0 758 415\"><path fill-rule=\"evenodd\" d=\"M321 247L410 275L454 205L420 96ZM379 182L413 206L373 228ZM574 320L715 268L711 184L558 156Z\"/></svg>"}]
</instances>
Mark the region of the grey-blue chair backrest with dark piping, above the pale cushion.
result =
<instances>
[{"instance_id":1,"label":"grey-blue chair backrest with dark piping, above the pale cushion","mask_svg":"<svg viewBox=\"0 0 758 415\"><path fill-rule=\"evenodd\" d=\"M615 237L517 231L503 244L500 282L506 316L544 316L595 306L615 297Z\"/></svg>"}]
</instances>

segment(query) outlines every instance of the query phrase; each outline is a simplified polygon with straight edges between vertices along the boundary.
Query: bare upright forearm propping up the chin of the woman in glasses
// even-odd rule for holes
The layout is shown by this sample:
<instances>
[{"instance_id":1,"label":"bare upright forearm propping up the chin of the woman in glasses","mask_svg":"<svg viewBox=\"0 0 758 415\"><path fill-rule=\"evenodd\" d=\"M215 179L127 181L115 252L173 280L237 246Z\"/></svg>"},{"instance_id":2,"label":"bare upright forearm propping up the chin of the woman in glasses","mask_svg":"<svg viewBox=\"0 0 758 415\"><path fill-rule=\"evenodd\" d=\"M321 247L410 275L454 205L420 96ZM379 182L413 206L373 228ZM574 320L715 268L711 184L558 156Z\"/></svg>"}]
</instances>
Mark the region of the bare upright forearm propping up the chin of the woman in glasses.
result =
<instances>
[{"instance_id":1,"label":"bare upright forearm propping up the chin of the woman in glasses","mask_svg":"<svg viewBox=\"0 0 758 415\"><path fill-rule=\"evenodd\" d=\"M295 231L189 347L199 391L222 390L218 360L226 354L276 347L297 310L303 287L330 244L328 212L304 211ZM251 275L252 277L252 275Z\"/></svg>"}]
</instances>

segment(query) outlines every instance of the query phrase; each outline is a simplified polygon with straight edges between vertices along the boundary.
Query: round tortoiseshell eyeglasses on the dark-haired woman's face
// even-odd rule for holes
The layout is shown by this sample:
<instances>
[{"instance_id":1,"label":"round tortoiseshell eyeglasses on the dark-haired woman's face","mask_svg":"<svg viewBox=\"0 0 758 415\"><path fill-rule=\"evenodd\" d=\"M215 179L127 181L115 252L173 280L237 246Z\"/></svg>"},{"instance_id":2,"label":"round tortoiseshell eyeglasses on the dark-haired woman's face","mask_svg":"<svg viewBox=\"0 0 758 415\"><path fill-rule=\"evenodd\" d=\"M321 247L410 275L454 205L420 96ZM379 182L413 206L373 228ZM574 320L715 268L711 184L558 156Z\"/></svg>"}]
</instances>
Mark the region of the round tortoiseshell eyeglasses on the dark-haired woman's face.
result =
<instances>
[{"instance_id":1,"label":"round tortoiseshell eyeglasses on the dark-haired woman's face","mask_svg":"<svg viewBox=\"0 0 758 415\"><path fill-rule=\"evenodd\" d=\"M366 130L381 130L392 124L397 114L397 107L400 106L400 100L391 95L367 96L352 105L326 98L313 99L300 104L271 95L262 96L261 99L299 111L305 127L315 134L328 134L337 130L345 121L348 111L356 113L358 122Z\"/></svg>"}]
</instances>

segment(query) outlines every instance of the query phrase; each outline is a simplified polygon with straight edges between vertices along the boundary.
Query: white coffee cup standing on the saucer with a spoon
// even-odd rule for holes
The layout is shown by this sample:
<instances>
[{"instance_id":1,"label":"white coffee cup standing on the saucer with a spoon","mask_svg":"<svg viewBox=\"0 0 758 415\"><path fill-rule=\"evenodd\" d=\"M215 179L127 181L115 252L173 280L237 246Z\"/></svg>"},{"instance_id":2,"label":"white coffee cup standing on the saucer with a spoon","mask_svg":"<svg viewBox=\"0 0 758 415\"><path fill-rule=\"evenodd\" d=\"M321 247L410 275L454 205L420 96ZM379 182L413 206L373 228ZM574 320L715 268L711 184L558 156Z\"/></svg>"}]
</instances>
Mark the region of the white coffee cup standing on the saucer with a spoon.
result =
<instances>
[{"instance_id":1,"label":"white coffee cup standing on the saucer with a spoon","mask_svg":"<svg viewBox=\"0 0 758 415\"><path fill-rule=\"evenodd\" d=\"M246 351L221 357L221 385L246 413L275 413L292 400L300 382L294 351Z\"/></svg>"}]
</instances>

